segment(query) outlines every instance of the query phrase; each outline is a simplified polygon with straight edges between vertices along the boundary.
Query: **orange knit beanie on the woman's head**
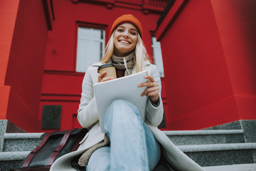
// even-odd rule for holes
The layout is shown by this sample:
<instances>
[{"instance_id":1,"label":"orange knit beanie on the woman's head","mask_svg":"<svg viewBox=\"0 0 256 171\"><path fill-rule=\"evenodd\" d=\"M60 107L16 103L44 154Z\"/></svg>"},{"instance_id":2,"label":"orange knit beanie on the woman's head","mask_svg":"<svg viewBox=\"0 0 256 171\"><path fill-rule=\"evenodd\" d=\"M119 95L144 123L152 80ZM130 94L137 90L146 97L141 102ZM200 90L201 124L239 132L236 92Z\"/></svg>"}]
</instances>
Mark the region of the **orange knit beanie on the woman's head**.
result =
<instances>
[{"instance_id":1,"label":"orange knit beanie on the woman's head","mask_svg":"<svg viewBox=\"0 0 256 171\"><path fill-rule=\"evenodd\" d=\"M125 14L125 15L119 16L112 24L110 35L113 33L114 29L117 28L117 26L123 23L133 24L139 31L140 36L142 37L142 33L143 33L142 24L132 14Z\"/></svg>"}]
</instances>

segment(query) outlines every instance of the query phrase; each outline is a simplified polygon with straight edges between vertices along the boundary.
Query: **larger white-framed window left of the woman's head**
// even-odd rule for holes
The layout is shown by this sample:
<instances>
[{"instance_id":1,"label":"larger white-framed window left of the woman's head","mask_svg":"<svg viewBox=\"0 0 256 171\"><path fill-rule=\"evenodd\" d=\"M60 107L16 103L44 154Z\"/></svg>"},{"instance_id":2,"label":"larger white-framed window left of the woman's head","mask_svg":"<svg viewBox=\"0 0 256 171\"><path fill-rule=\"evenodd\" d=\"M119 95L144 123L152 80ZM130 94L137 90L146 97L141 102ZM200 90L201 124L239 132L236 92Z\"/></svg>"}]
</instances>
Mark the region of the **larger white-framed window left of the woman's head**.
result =
<instances>
[{"instance_id":1,"label":"larger white-framed window left of the woman's head","mask_svg":"<svg viewBox=\"0 0 256 171\"><path fill-rule=\"evenodd\" d=\"M88 66L100 61L104 55L105 30L78 27L78 48L75 71L85 73Z\"/></svg>"}]
</instances>

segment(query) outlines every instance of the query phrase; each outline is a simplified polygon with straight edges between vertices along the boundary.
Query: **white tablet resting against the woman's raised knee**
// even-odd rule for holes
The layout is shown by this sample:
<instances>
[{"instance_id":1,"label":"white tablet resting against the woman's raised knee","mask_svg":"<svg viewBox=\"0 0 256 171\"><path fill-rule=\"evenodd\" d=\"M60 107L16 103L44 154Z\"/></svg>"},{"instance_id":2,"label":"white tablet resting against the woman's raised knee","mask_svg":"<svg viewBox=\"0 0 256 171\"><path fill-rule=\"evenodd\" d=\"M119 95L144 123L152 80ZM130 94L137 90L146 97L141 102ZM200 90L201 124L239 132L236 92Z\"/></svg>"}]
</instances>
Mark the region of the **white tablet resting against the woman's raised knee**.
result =
<instances>
[{"instance_id":1,"label":"white tablet resting against the woman's raised knee","mask_svg":"<svg viewBox=\"0 0 256 171\"><path fill-rule=\"evenodd\" d=\"M146 87L138 88L137 86L139 83L147 81L144 78L146 75L146 71L141 71L111 81L93 84L102 133L104 133L105 113L113 100L123 99L133 103L139 110L142 120L146 120L147 98L146 95L141 96Z\"/></svg>"}]
</instances>

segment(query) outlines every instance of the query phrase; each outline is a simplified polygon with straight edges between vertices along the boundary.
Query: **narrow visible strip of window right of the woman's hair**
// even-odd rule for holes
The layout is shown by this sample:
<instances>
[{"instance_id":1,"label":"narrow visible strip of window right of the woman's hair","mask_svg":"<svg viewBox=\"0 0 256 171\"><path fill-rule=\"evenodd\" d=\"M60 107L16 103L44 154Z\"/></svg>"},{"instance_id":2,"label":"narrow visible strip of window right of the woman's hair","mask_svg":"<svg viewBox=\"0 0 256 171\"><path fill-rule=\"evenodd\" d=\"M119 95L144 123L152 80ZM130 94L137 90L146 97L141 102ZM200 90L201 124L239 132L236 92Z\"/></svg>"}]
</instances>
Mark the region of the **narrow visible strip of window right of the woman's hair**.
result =
<instances>
[{"instance_id":1,"label":"narrow visible strip of window right of the woman's hair","mask_svg":"<svg viewBox=\"0 0 256 171\"><path fill-rule=\"evenodd\" d=\"M156 37L154 36L152 36L152 48L153 48L154 64L159 69L160 76L164 77L163 58L161 56L161 44L159 41L156 41Z\"/></svg>"}]
</instances>

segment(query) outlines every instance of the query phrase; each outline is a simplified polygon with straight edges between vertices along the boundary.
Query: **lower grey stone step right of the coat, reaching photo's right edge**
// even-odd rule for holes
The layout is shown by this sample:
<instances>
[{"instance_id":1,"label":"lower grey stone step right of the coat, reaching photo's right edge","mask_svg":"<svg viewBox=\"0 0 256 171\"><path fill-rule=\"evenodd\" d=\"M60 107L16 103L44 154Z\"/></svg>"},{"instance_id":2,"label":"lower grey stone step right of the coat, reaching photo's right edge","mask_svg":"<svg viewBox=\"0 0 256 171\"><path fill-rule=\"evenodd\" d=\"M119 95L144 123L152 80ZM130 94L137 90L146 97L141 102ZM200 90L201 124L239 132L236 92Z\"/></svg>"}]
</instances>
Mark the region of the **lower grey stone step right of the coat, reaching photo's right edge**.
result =
<instances>
[{"instance_id":1,"label":"lower grey stone step right of the coat, reaching photo's right edge","mask_svg":"<svg viewBox=\"0 0 256 171\"><path fill-rule=\"evenodd\" d=\"M256 143L178 145L201 166L256 163Z\"/></svg>"}]
</instances>

